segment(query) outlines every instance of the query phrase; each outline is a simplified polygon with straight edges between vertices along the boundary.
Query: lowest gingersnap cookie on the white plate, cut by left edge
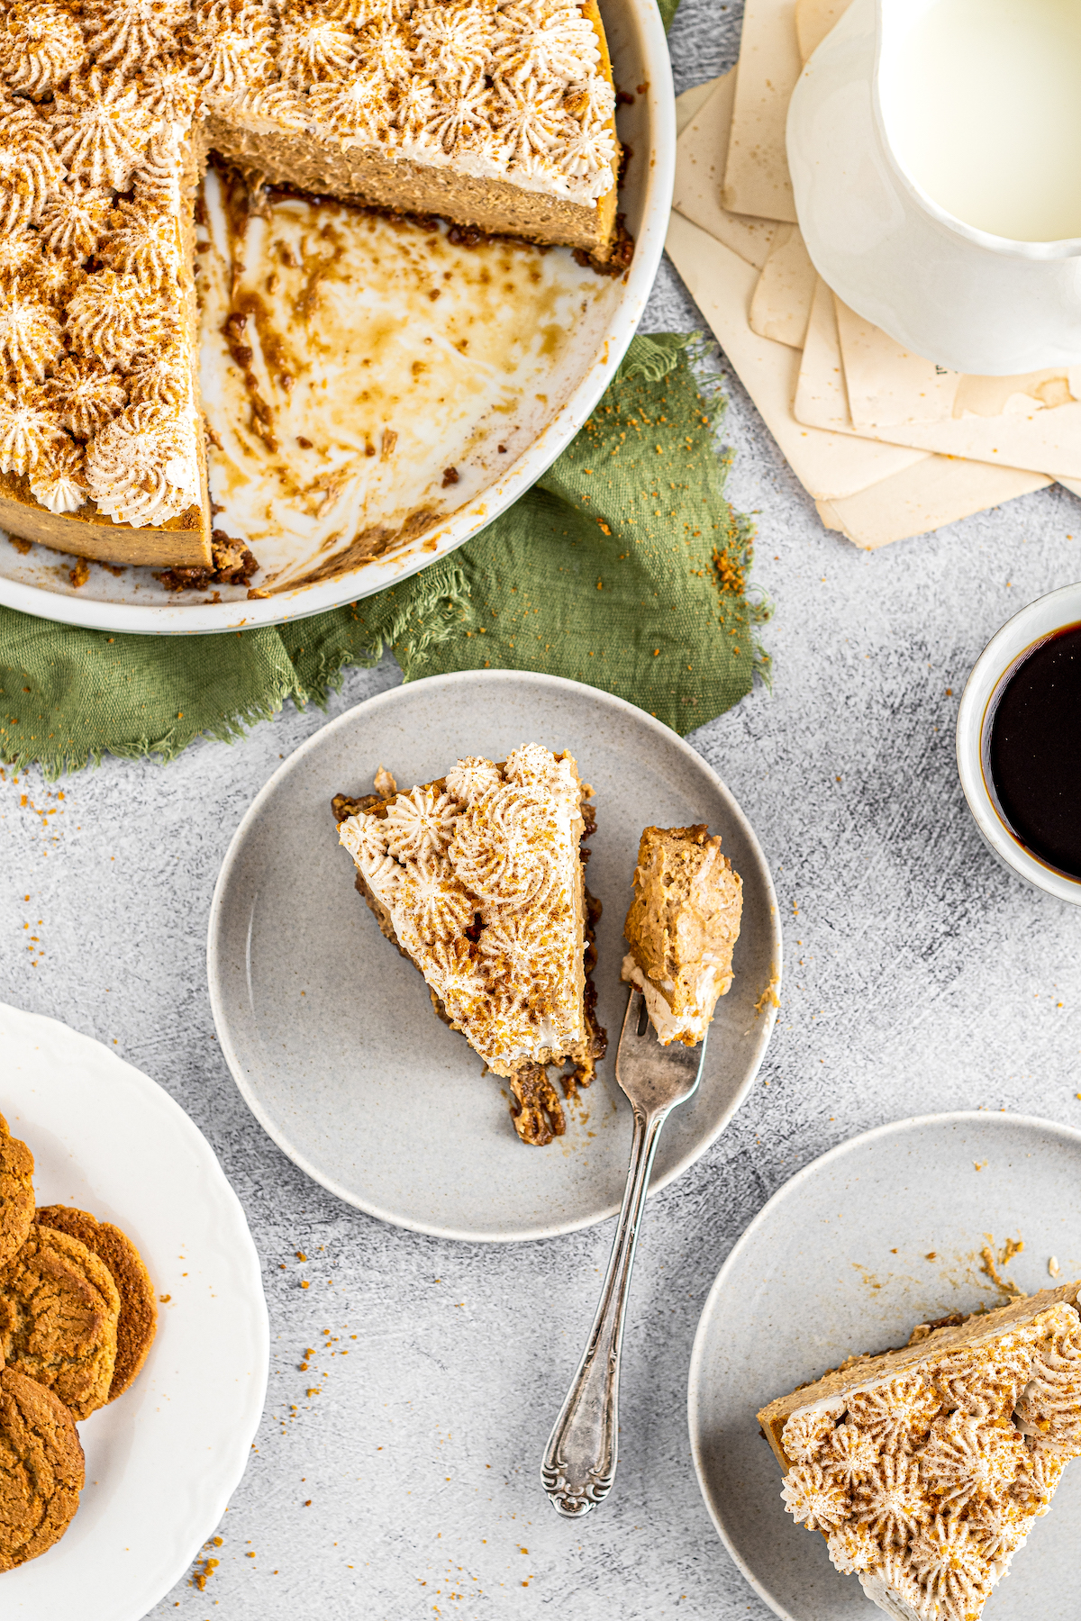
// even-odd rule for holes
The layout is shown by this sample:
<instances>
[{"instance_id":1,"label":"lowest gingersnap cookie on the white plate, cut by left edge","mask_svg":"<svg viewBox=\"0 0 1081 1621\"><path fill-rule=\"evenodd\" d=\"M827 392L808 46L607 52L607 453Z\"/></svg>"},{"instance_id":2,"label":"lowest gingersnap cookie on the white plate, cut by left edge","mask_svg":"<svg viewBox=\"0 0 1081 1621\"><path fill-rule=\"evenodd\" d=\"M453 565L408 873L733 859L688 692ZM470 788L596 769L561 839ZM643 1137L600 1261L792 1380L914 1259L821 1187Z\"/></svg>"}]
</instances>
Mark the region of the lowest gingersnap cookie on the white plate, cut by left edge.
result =
<instances>
[{"instance_id":1,"label":"lowest gingersnap cookie on the white plate, cut by left edge","mask_svg":"<svg viewBox=\"0 0 1081 1621\"><path fill-rule=\"evenodd\" d=\"M0 1373L0 1571L60 1542L79 1506L79 1433L60 1397L15 1368Z\"/></svg>"}]
</instances>

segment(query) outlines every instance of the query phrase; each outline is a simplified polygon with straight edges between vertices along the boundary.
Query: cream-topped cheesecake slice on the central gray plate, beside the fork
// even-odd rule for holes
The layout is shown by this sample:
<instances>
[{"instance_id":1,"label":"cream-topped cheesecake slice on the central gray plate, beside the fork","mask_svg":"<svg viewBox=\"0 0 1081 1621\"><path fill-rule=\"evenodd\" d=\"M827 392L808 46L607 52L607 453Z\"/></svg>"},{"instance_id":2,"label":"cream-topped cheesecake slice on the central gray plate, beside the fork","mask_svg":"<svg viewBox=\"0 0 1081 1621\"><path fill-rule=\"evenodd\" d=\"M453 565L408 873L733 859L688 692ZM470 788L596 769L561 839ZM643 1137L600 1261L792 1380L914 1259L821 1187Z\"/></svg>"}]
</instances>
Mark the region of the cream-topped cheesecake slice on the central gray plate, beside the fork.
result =
<instances>
[{"instance_id":1,"label":"cream-topped cheesecake slice on the central gray plate, beside the fork","mask_svg":"<svg viewBox=\"0 0 1081 1621\"><path fill-rule=\"evenodd\" d=\"M374 794L334 799L382 934L421 971L439 1016L511 1083L515 1130L533 1144L564 1130L548 1067L570 1062L570 1096L605 1050L587 984L600 916L582 875L590 794L569 754L530 742L408 791L381 767Z\"/></svg>"}]
</instances>

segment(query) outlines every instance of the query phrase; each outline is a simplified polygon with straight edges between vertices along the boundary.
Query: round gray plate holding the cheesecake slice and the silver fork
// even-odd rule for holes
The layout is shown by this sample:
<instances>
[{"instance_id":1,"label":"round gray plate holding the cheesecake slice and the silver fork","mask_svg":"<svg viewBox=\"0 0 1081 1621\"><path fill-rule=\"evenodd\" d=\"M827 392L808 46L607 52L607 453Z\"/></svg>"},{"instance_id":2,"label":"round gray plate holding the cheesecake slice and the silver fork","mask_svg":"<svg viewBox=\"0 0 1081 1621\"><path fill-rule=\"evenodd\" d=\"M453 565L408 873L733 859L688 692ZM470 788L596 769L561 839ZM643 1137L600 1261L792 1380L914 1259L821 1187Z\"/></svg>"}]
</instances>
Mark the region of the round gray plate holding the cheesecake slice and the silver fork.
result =
<instances>
[{"instance_id":1,"label":"round gray plate holding the cheesecake slice and the silver fork","mask_svg":"<svg viewBox=\"0 0 1081 1621\"><path fill-rule=\"evenodd\" d=\"M379 934L331 817L331 796L371 791L381 763L408 786L522 742L570 749L595 788L587 883L605 905L598 1007L613 1037L566 1136L541 1149L519 1143L506 1083L481 1075ZM652 1187L677 1177L731 1120L773 1028L763 992L780 981L781 939L765 858L724 785L660 721L574 681L501 669L433 676L339 716L274 773L233 836L211 908L211 1000L237 1084L274 1141L339 1198L418 1232L540 1238L613 1216L630 1151L611 1057L622 921L650 822L708 822L744 880L736 979Z\"/></svg>"}]
</instances>

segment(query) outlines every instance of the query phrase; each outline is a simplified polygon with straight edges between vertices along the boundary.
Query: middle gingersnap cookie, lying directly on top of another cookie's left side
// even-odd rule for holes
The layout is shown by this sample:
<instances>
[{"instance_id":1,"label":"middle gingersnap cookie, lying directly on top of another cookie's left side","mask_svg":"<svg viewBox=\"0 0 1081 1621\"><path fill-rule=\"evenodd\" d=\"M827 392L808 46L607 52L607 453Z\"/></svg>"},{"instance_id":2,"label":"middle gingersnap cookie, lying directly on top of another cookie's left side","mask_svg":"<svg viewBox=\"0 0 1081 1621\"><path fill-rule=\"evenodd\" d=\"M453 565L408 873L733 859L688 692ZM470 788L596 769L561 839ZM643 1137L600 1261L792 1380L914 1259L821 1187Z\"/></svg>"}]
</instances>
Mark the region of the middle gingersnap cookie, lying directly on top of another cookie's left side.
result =
<instances>
[{"instance_id":1,"label":"middle gingersnap cookie, lying directly on top of another cookie's left side","mask_svg":"<svg viewBox=\"0 0 1081 1621\"><path fill-rule=\"evenodd\" d=\"M31 1225L0 1268L0 1355L88 1418L109 1401L117 1365L120 1292L78 1238Z\"/></svg>"}]
</instances>

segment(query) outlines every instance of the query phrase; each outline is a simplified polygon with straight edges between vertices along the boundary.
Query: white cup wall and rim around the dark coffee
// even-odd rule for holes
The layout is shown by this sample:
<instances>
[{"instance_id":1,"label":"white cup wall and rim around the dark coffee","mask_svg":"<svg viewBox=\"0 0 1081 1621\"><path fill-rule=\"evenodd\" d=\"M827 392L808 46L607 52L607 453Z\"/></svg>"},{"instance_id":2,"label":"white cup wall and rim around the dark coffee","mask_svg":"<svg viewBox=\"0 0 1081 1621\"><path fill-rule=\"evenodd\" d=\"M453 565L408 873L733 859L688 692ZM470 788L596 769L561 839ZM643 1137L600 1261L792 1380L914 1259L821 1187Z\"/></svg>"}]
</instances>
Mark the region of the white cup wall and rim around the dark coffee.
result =
<instances>
[{"instance_id":1,"label":"white cup wall and rim around the dark coffee","mask_svg":"<svg viewBox=\"0 0 1081 1621\"><path fill-rule=\"evenodd\" d=\"M1047 895L1081 906L1081 879L1034 856L1003 820L990 791L989 742L1005 678L1045 637L1081 622L1081 582L1039 597L998 631L972 666L958 710L958 772L969 810L987 848L1018 877Z\"/></svg>"}]
</instances>

